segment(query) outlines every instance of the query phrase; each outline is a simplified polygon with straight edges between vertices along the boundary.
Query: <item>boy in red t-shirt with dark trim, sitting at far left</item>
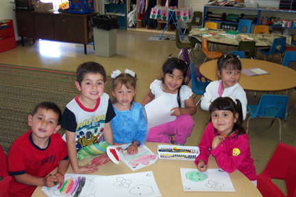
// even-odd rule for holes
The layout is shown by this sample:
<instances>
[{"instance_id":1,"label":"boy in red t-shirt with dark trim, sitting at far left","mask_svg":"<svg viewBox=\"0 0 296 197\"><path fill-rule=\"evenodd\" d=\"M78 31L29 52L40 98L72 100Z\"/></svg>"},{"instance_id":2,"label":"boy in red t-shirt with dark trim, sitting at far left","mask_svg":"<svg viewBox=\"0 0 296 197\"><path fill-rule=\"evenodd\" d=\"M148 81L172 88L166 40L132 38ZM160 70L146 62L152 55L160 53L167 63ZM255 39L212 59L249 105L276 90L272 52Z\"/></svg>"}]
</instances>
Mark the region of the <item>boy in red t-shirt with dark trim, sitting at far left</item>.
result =
<instances>
[{"instance_id":1,"label":"boy in red t-shirt with dark trim, sitting at far left","mask_svg":"<svg viewBox=\"0 0 296 197\"><path fill-rule=\"evenodd\" d=\"M38 104L28 117L31 131L18 137L8 153L8 171L12 175L10 197L32 196L36 186L53 187L64 182L69 167L66 142L57 131L62 112L55 103ZM47 176L58 167L53 176Z\"/></svg>"}]
</instances>

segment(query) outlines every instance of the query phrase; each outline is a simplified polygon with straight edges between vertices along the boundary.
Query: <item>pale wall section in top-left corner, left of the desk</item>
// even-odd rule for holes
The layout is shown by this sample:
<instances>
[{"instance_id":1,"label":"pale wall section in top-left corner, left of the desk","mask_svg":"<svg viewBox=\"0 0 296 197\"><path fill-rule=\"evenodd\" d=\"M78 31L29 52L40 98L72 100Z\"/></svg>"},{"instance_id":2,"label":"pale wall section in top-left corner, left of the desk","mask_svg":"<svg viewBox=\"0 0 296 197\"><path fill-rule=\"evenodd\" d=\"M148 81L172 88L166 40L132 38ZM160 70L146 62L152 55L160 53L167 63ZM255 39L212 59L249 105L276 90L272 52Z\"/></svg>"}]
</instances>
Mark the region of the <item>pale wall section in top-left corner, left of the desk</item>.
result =
<instances>
[{"instance_id":1,"label":"pale wall section in top-left corner, left of the desk","mask_svg":"<svg viewBox=\"0 0 296 197\"><path fill-rule=\"evenodd\" d=\"M14 14L15 3L10 3L10 0L0 0L0 19L12 19L14 21L14 34L16 40L21 40L21 37L18 37L17 27L16 27L16 17Z\"/></svg>"}]
</instances>

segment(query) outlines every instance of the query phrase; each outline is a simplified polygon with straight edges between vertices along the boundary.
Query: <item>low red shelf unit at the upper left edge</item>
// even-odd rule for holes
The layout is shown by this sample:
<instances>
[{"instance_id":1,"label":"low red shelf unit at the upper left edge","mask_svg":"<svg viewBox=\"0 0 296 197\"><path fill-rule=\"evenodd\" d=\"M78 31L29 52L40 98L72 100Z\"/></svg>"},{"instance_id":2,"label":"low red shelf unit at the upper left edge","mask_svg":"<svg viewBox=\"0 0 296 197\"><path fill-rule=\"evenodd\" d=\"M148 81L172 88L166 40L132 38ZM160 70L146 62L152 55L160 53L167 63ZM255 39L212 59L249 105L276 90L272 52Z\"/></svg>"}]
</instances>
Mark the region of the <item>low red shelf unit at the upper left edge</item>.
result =
<instances>
[{"instance_id":1,"label":"low red shelf unit at the upper left edge","mask_svg":"<svg viewBox=\"0 0 296 197\"><path fill-rule=\"evenodd\" d=\"M5 25L7 24L7 25ZM13 21L10 19L7 23L0 23L0 53L16 48L16 40L14 36ZM4 26L8 26L7 28Z\"/></svg>"}]
</instances>

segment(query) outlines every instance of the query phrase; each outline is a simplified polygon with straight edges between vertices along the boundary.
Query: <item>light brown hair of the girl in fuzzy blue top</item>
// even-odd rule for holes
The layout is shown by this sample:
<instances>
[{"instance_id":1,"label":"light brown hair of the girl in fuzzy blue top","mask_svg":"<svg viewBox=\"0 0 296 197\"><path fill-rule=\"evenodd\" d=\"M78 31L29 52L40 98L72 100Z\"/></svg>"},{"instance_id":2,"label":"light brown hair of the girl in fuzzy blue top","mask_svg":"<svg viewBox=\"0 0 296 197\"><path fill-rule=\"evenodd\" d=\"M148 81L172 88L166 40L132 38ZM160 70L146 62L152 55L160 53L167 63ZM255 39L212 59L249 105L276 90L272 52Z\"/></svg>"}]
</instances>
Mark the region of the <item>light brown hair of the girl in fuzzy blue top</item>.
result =
<instances>
[{"instance_id":1,"label":"light brown hair of the girl in fuzzy blue top","mask_svg":"<svg viewBox=\"0 0 296 197\"><path fill-rule=\"evenodd\" d=\"M121 86L125 86L127 89L134 88L134 90L136 90L136 81L137 80L138 79L136 78L136 74L135 74L135 77L132 77L132 75L130 75L130 74L121 73L120 75L115 77L115 79L112 79L112 91L114 92L114 89L118 84L121 84ZM135 101L134 98L133 98L133 101ZM115 96L111 96L111 102L112 103L117 102Z\"/></svg>"}]
</instances>

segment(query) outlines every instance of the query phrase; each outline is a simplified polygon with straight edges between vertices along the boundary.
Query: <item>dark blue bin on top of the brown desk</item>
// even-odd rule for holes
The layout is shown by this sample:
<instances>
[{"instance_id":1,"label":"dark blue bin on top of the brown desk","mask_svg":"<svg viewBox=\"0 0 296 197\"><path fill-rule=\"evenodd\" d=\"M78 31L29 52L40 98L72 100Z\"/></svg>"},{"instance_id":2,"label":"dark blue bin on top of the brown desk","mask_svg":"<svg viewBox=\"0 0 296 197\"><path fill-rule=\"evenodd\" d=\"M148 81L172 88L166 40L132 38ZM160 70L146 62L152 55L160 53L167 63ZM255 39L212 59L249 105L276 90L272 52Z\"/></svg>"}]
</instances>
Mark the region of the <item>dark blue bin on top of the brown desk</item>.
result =
<instances>
[{"instance_id":1,"label":"dark blue bin on top of the brown desk","mask_svg":"<svg viewBox=\"0 0 296 197\"><path fill-rule=\"evenodd\" d=\"M87 14L95 12L94 0L69 0L70 14Z\"/></svg>"}]
</instances>

